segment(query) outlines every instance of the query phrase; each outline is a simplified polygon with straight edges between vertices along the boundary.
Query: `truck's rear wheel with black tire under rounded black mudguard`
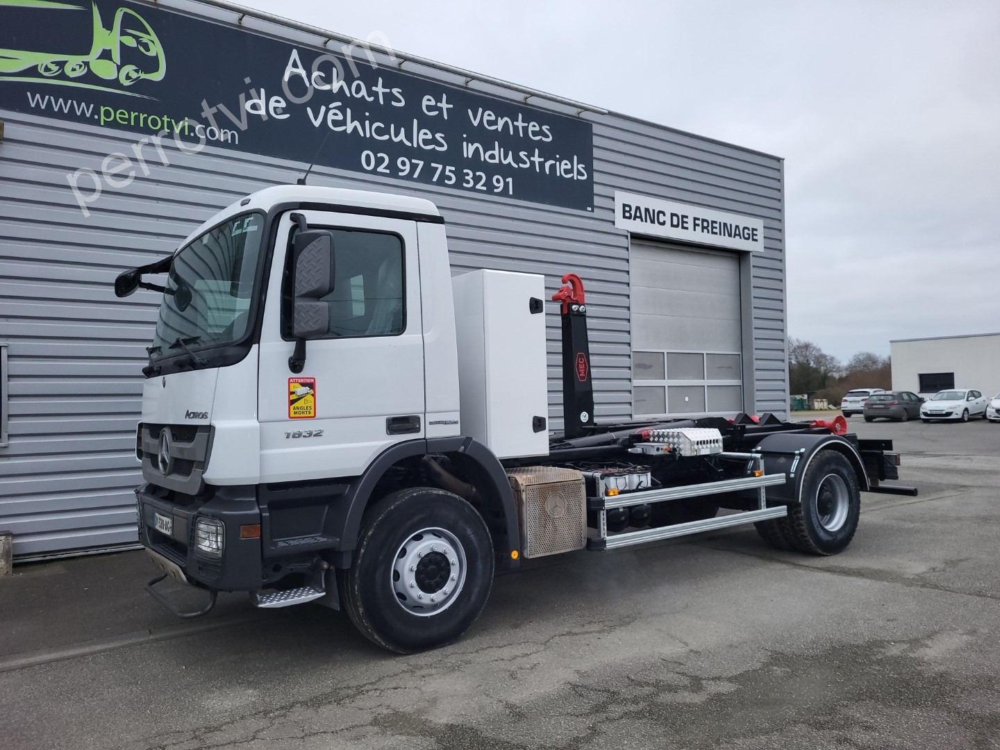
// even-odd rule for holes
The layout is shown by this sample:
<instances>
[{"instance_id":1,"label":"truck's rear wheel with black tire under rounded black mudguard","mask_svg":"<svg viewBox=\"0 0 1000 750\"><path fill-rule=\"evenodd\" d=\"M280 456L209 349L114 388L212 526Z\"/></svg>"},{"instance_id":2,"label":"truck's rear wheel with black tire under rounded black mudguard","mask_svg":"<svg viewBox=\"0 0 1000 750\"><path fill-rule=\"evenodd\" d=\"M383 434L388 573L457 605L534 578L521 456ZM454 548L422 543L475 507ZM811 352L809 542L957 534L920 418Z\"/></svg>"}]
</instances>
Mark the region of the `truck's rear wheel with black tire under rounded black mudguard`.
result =
<instances>
[{"instance_id":1,"label":"truck's rear wheel with black tire under rounded black mudguard","mask_svg":"<svg viewBox=\"0 0 1000 750\"><path fill-rule=\"evenodd\" d=\"M861 492L854 467L834 450L819 451L802 478L800 502L788 506L788 531L800 552L835 555L854 538Z\"/></svg>"}]
</instances>

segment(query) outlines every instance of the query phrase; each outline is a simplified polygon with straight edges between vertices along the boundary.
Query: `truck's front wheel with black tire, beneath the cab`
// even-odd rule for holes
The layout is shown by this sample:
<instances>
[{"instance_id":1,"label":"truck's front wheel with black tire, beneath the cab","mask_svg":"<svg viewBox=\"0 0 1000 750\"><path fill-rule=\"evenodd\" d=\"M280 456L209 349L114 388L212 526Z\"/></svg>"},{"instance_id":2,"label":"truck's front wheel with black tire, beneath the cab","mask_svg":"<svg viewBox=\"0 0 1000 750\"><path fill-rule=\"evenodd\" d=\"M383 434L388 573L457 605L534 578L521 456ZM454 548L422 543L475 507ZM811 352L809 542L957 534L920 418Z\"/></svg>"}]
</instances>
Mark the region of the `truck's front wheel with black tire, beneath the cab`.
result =
<instances>
[{"instance_id":1,"label":"truck's front wheel with black tire, beneath the cab","mask_svg":"<svg viewBox=\"0 0 1000 750\"><path fill-rule=\"evenodd\" d=\"M344 609L373 643L401 654L458 639L493 585L493 542L482 516L450 492L400 490L365 513Z\"/></svg>"}]
</instances>

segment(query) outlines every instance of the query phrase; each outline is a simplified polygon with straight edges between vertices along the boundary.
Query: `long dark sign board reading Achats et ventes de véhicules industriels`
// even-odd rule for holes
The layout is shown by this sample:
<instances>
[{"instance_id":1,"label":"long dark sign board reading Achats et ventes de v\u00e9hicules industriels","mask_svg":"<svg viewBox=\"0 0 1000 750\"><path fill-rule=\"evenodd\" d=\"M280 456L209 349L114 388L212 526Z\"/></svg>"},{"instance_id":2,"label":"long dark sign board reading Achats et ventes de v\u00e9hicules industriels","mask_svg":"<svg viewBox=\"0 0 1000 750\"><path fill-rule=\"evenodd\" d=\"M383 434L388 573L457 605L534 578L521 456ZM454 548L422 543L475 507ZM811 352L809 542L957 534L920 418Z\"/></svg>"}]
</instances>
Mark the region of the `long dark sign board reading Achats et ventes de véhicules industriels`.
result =
<instances>
[{"instance_id":1,"label":"long dark sign board reading Achats et ventes de v\u00e9hicules industriels","mask_svg":"<svg viewBox=\"0 0 1000 750\"><path fill-rule=\"evenodd\" d=\"M351 53L125 0L0 0L0 109L592 208L590 123Z\"/></svg>"}]
</instances>

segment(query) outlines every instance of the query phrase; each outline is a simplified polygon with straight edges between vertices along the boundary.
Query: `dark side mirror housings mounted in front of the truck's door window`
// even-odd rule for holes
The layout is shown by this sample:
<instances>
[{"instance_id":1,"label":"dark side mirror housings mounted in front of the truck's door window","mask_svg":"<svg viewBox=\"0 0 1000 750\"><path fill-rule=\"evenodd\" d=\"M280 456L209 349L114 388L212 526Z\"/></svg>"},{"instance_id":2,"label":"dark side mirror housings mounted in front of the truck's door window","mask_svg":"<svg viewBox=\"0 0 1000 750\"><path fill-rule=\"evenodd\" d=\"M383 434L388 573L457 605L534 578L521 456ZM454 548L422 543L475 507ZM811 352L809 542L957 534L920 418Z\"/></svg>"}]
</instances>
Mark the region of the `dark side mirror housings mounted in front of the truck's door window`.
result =
<instances>
[{"instance_id":1,"label":"dark side mirror housings mounted in front of the truck's door window","mask_svg":"<svg viewBox=\"0 0 1000 750\"><path fill-rule=\"evenodd\" d=\"M320 299L333 291L336 262L333 235L325 229L307 229L292 245L292 334L297 339L326 335L330 306Z\"/></svg>"}]
</instances>

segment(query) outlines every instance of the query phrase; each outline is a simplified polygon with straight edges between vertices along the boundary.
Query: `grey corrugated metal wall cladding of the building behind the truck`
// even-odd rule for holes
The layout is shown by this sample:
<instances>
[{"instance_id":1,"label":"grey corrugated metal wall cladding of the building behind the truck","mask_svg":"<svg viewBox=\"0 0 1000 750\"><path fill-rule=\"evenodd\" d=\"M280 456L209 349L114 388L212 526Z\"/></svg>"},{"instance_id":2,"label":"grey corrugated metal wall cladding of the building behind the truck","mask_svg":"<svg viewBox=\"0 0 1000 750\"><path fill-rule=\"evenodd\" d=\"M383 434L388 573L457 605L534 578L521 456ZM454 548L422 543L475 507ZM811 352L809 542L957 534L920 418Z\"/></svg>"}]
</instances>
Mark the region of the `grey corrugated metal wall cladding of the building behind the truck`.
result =
<instances>
[{"instance_id":1,"label":"grey corrugated metal wall cladding of the building behind the truck","mask_svg":"<svg viewBox=\"0 0 1000 750\"><path fill-rule=\"evenodd\" d=\"M311 43L298 32L281 34ZM414 72L415 65L407 70ZM434 71L429 78L453 82ZM511 93L511 97L515 95ZM518 100L523 97L516 95ZM565 111L564 107L553 109ZM614 228L614 190L759 217L764 253L752 259L758 411L785 412L782 165L775 157L618 115L594 123L593 214L470 197L433 186L314 168L310 184L390 190L434 200L448 222L455 272L474 268L584 278L596 418L631 416L628 236ZM170 253L217 209L301 176L304 165L206 148L170 165L147 151L149 176L106 192L84 218L67 183L100 171L138 136L0 111L0 341L10 342L10 444L0 448L0 529L19 556L134 542L139 481L134 428L143 347L157 296L116 299L119 271ZM89 187L86 180L81 186ZM549 316L549 404L561 426L558 317Z\"/></svg>"}]
</instances>

